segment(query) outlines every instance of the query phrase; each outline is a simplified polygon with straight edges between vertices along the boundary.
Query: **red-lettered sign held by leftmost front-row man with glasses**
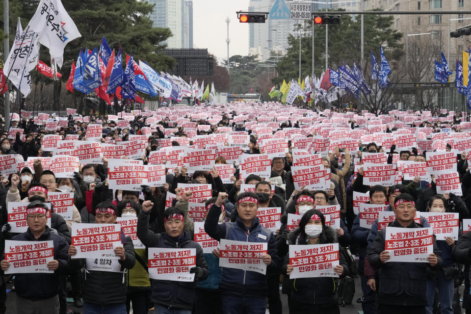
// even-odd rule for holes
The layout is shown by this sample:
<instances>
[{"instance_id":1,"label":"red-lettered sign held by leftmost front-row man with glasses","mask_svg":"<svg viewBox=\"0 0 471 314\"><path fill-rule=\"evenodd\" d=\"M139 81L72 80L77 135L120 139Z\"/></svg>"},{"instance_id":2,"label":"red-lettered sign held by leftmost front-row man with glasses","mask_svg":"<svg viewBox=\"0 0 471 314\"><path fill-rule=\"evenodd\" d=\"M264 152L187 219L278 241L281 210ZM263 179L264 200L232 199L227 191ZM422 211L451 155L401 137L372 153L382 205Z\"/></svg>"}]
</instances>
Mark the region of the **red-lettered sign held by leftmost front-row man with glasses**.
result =
<instances>
[{"instance_id":1,"label":"red-lettered sign held by leftmost front-row man with glasses","mask_svg":"<svg viewBox=\"0 0 471 314\"><path fill-rule=\"evenodd\" d=\"M5 274L53 273L46 265L54 259L54 241L5 240Z\"/></svg>"}]
</instances>

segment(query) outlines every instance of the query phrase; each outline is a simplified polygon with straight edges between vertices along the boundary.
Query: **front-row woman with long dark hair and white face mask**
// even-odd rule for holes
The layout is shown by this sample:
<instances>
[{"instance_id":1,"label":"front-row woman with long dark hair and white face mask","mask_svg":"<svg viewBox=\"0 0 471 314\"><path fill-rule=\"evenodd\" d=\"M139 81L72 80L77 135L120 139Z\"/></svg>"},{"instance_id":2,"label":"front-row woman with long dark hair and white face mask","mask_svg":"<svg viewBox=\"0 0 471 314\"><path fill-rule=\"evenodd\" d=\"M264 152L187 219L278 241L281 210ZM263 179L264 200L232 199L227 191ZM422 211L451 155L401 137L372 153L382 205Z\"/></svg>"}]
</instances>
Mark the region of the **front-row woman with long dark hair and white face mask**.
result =
<instances>
[{"instance_id":1,"label":"front-row woman with long dark hair and white face mask","mask_svg":"<svg viewBox=\"0 0 471 314\"><path fill-rule=\"evenodd\" d=\"M324 215L315 209L304 213L296 228L288 235L290 245L338 243L337 233L325 225ZM340 278L348 273L348 264L339 254L339 265L334 271ZM286 257L283 270L289 275L293 266ZM339 280L336 277L297 278L291 280L290 314L339 314L337 289Z\"/></svg>"}]
</instances>

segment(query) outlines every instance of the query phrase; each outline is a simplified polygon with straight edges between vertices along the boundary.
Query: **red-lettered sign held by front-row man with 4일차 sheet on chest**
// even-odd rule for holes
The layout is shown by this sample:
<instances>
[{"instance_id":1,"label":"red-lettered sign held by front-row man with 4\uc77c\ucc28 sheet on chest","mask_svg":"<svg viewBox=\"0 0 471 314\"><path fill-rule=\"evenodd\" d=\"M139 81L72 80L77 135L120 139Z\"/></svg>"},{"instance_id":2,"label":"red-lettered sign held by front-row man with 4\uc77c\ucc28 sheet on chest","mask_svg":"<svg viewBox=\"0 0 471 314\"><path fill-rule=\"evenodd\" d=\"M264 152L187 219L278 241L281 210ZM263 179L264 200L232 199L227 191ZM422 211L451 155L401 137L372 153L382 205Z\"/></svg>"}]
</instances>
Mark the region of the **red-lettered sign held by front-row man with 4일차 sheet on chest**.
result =
<instances>
[{"instance_id":1,"label":"red-lettered sign held by front-row man with 4\uc77c\ucc28 sheet on chest","mask_svg":"<svg viewBox=\"0 0 471 314\"><path fill-rule=\"evenodd\" d=\"M121 244L121 225L72 223L72 245L77 254L72 259L119 259L114 249Z\"/></svg>"}]
</instances>

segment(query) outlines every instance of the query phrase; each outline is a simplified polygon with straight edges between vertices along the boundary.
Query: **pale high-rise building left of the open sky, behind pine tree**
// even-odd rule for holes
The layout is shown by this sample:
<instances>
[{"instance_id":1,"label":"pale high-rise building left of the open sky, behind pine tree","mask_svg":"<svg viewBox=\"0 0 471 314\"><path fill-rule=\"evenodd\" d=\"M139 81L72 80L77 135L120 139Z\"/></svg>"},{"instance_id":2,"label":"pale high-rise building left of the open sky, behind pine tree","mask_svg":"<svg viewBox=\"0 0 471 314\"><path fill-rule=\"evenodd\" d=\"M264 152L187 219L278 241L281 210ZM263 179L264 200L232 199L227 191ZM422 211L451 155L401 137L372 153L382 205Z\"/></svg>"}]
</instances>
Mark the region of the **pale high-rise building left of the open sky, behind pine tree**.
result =
<instances>
[{"instance_id":1,"label":"pale high-rise building left of the open sky, behind pine tree","mask_svg":"<svg viewBox=\"0 0 471 314\"><path fill-rule=\"evenodd\" d=\"M150 15L154 27L170 28L172 37L165 42L168 48L193 47L193 1L149 0L155 4ZM190 46L191 43L191 46Z\"/></svg>"}]
</instances>

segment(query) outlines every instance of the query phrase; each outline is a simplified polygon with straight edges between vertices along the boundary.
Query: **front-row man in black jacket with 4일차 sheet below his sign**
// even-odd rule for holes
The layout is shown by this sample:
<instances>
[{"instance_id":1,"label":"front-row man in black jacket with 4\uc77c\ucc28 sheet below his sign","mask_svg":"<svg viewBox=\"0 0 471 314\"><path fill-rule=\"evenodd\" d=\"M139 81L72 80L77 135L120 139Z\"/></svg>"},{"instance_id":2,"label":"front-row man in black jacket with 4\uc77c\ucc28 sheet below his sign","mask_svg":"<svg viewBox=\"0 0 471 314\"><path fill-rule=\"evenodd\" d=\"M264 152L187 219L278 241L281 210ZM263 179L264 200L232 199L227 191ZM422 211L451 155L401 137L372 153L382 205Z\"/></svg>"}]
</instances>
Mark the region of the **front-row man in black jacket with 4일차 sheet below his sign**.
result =
<instances>
[{"instance_id":1,"label":"front-row man in black jacket with 4\uc77c\ucc28 sheet below his sign","mask_svg":"<svg viewBox=\"0 0 471 314\"><path fill-rule=\"evenodd\" d=\"M102 202L95 209L95 223L115 224L116 207L109 202ZM72 263L86 266L86 275L83 285L84 313L113 313L126 314L127 283L125 269L131 269L136 263L134 245L131 237L121 231L121 243L123 246L114 248L114 254L119 260L105 260L105 270L92 270L95 268L96 259L73 259ZM74 245L69 247L69 256L77 254ZM104 267L105 267L104 266Z\"/></svg>"}]
</instances>

